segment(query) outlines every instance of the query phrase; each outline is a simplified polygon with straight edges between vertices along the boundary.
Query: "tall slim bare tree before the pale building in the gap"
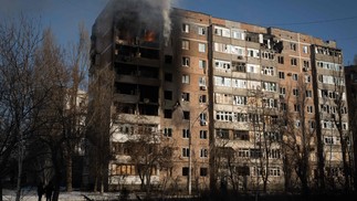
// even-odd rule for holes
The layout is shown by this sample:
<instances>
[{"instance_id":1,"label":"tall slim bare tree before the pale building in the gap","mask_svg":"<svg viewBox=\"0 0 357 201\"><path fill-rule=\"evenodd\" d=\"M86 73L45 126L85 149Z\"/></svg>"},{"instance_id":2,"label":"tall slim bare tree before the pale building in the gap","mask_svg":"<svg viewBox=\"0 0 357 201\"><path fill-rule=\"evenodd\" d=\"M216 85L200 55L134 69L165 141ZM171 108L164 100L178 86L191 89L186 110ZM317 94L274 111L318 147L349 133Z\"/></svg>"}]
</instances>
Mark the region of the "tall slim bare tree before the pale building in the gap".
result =
<instances>
[{"instance_id":1,"label":"tall slim bare tree before the pale building in the gap","mask_svg":"<svg viewBox=\"0 0 357 201\"><path fill-rule=\"evenodd\" d=\"M70 60L66 64L70 73L70 86L66 97L66 113L64 113L64 129L66 130L65 158L66 158L66 190L72 191L72 167L75 148L84 138L86 125L84 117L87 103L87 72L90 66L90 38L80 24L77 43L70 46Z\"/></svg>"}]
</instances>

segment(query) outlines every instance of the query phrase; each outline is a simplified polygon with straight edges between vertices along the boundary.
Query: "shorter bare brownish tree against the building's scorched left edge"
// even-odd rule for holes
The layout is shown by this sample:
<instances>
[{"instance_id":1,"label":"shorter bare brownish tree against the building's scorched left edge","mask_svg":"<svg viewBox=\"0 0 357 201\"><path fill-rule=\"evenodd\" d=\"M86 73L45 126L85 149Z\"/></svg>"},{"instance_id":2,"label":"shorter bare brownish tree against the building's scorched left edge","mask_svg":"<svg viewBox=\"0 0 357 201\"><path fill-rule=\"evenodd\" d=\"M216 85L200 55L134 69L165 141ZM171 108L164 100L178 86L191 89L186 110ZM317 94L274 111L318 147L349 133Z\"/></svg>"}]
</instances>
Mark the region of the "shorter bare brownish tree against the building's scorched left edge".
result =
<instances>
[{"instance_id":1,"label":"shorter bare brownish tree against the building's scorched left edge","mask_svg":"<svg viewBox=\"0 0 357 201\"><path fill-rule=\"evenodd\" d=\"M86 129L87 157L91 162L90 174L94 178L93 190L99 189L101 192L104 192L107 165L112 158L109 142L113 135L112 125L117 114L112 107L114 73L108 66L101 66L91 71L92 81L88 88L91 99L86 117L86 125L88 125Z\"/></svg>"}]
</instances>

